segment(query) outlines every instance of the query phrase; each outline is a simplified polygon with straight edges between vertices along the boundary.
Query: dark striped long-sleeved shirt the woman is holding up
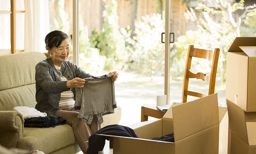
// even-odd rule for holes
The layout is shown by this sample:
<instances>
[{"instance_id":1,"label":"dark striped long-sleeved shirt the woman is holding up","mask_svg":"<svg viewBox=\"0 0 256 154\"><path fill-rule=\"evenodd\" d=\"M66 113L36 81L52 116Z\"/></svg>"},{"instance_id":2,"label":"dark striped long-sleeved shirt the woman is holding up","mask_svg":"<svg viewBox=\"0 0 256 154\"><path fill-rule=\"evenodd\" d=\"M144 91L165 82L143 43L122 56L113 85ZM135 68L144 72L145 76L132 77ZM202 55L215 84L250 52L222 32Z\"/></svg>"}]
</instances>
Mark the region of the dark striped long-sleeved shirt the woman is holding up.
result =
<instances>
[{"instance_id":1,"label":"dark striped long-sleeved shirt the woman is holding up","mask_svg":"<svg viewBox=\"0 0 256 154\"><path fill-rule=\"evenodd\" d=\"M112 76L106 74L104 77L84 78L84 87L76 89L75 109L80 109L77 116L79 119L90 125L93 115L97 115L101 124L103 122L102 116L114 113L114 108L117 106Z\"/></svg>"}]
</instances>

